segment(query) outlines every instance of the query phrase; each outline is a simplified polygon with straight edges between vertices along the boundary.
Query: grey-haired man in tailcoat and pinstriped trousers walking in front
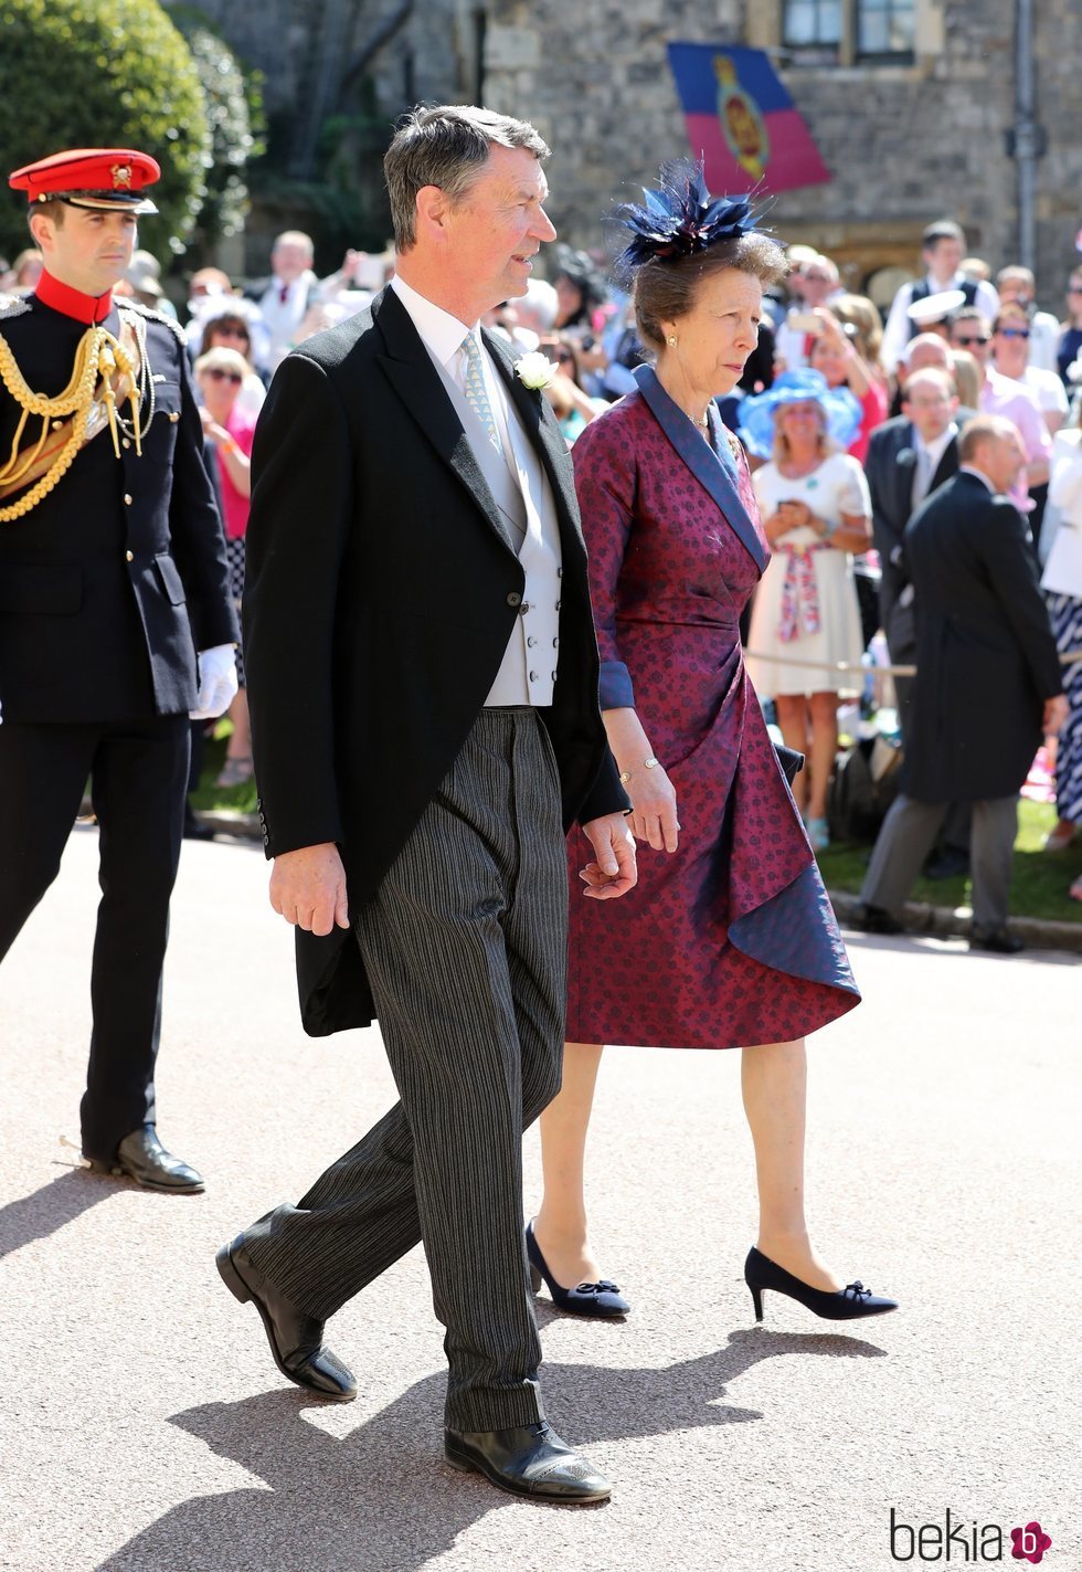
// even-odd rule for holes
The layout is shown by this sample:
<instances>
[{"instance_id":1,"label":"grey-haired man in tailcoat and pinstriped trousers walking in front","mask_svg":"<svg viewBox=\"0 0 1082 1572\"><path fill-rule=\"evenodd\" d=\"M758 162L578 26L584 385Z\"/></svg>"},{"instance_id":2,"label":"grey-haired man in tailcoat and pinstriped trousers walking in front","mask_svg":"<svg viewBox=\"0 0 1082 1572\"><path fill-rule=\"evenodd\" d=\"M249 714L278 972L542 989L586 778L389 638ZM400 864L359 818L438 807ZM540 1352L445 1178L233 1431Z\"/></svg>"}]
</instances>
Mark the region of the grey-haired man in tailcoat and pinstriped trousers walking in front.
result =
<instances>
[{"instance_id":1,"label":"grey-haired man in tailcoat and pinstriped trousers walking in front","mask_svg":"<svg viewBox=\"0 0 1082 1572\"><path fill-rule=\"evenodd\" d=\"M349 1399L324 1322L422 1240L448 1460L576 1503L609 1484L545 1421L521 1129L561 1080L564 832L595 849L587 896L628 890L634 855L543 363L477 325L553 239L546 151L487 110L410 116L385 160L396 278L289 355L259 421L245 662L270 899L300 929L306 1030L378 1016L400 1102L218 1267L281 1372Z\"/></svg>"}]
</instances>

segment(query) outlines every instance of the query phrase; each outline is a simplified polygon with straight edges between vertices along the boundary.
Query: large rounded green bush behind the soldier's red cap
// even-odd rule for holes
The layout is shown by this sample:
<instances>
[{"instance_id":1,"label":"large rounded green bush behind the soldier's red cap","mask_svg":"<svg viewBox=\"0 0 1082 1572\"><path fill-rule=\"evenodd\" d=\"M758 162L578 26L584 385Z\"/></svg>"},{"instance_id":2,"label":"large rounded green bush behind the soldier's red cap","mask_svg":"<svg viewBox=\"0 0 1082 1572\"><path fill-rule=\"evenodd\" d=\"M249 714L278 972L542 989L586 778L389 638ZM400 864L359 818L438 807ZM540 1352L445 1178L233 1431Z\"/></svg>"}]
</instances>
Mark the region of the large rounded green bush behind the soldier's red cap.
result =
<instances>
[{"instance_id":1,"label":"large rounded green bush behind the soldier's red cap","mask_svg":"<svg viewBox=\"0 0 1082 1572\"><path fill-rule=\"evenodd\" d=\"M16 170L64 148L138 148L162 165L140 245L182 252L207 195L210 127L188 46L157 0L0 0L0 148ZM0 250L28 244L22 193Z\"/></svg>"}]
</instances>

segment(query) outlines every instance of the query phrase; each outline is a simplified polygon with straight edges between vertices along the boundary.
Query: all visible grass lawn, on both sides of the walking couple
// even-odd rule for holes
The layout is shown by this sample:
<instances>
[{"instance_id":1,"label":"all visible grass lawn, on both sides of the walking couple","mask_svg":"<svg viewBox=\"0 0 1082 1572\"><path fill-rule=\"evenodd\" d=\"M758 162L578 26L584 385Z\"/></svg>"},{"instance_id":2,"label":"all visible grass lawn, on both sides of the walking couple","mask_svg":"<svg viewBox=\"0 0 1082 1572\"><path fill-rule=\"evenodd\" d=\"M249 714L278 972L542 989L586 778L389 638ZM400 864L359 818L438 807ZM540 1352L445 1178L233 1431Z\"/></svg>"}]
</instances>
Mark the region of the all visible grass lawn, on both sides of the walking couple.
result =
<instances>
[{"instance_id":1,"label":"all visible grass lawn, on both sides of the walking couple","mask_svg":"<svg viewBox=\"0 0 1082 1572\"><path fill-rule=\"evenodd\" d=\"M204 813L226 808L232 813L256 811L256 786L218 788L214 778L221 769L226 751L229 723L220 723L220 736L207 737L199 789L192 794L192 805ZM1011 913L1014 916L1043 916L1060 923L1082 923L1082 901L1071 901L1068 887L1082 874L1082 835L1066 852L1043 852L1041 841L1055 824L1055 808L1044 802L1021 799L1018 813L1018 839L1014 841L1014 880L1011 885ZM864 882L864 871L872 854L870 846L829 846L820 852L820 869L828 890L845 890L856 894ZM919 879L912 898L933 905L969 905L969 879Z\"/></svg>"}]
</instances>

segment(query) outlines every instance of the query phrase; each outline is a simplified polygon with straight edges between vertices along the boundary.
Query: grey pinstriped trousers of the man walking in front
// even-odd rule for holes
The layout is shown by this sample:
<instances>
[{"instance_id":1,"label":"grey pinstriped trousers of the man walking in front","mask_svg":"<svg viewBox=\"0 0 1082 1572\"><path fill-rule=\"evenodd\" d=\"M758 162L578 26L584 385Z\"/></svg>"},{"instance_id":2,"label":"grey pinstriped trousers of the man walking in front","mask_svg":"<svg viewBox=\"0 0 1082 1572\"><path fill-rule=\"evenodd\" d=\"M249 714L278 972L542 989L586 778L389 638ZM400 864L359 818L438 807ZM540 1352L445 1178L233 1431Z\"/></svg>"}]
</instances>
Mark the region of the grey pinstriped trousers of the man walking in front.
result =
<instances>
[{"instance_id":1,"label":"grey pinstriped trousers of the man walking in front","mask_svg":"<svg viewBox=\"0 0 1082 1572\"><path fill-rule=\"evenodd\" d=\"M446 1327L446 1423L543 1418L521 1132L559 1091L567 865L556 759L531 709L485 709L356 920L399 1102L251 1259L325 1320L418 1240Z\"/></svg>"}]
</instances>

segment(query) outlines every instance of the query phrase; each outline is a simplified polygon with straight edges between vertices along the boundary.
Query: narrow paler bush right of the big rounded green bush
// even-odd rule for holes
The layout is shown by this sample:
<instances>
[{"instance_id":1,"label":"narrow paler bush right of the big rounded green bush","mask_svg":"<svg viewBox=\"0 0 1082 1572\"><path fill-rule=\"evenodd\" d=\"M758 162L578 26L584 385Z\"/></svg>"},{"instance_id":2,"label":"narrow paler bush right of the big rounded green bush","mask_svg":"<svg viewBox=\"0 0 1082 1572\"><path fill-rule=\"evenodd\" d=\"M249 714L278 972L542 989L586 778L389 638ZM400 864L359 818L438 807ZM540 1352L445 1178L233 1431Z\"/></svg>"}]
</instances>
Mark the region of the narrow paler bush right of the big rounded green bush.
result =
<instances>
[{"instance_id":1,"label":"narrow paler bush right of the big rounded green bush","mask_svg":"<svg viewBox=\"0 0 1082 1572\"><path fill-rule=\"evenodd\" d=\"M210 123L207 196L198 226L199 244L209 247L225 234L239 234L248 215L245 170L265 152L262 72L245 71L201 11L173 6L170 16L192 50Z\"/></svg>"}]
</instances>

